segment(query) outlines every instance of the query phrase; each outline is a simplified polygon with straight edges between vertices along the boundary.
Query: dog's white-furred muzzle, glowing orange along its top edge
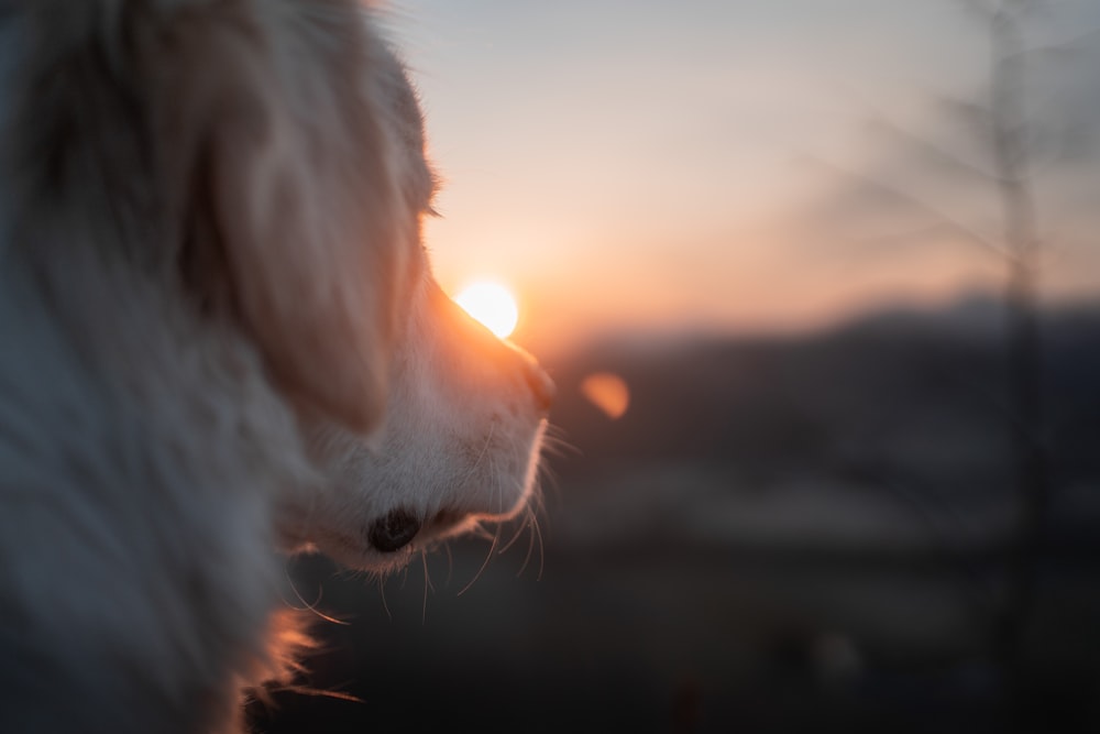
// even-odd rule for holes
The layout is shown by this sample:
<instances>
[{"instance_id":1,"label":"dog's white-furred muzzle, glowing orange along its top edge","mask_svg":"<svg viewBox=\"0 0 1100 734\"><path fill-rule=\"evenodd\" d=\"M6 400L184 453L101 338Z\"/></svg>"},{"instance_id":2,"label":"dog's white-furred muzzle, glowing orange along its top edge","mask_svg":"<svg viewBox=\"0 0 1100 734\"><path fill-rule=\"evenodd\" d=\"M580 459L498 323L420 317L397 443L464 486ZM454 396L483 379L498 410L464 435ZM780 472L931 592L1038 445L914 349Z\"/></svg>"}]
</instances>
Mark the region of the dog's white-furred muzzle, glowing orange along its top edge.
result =
<instances>
[{"instance_id":1,"label":"dog's white-furred muzzle, glowing orange along its top edge","mask_svg":"<svg viewBox=\"0 0 1100 734\"><path fill-rule=\"evenodd\" d=\"M475 324L430 278L414 291L410 327L396 349L389 419L370 443L331 425L314 447L338 479L310 496L302 536L352 567L405 563L426 545L481 518L514 514L530 491L543 423L534 360ZM363 544L395 508L425 519L414 543L382 555Z\"/></svg>"}]
</instances>

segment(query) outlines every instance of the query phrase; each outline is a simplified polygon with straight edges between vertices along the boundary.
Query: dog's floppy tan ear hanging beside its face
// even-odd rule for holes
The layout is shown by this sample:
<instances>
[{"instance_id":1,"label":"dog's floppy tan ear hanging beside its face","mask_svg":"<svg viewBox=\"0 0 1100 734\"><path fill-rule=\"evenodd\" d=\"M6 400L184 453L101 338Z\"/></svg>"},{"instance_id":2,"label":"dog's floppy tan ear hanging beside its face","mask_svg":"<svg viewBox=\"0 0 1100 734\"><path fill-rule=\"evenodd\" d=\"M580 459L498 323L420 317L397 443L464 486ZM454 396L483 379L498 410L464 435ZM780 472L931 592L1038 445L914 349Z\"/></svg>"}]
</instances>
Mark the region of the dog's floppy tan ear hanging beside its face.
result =
<instances>
[{"instance_id":1,"label":"dog's floppy tan ear hanging beside its face","mask_svg":"<svg viewBox=\"0 0 1100 734\"><path fill-rule=\"evenodd\" d=\"M309 28L276 4L204 3L150 40L155 145L188 287L292 401L369 431L415 252L372 78L387 52L354 15Z\"/></svg>"}]
</instances>

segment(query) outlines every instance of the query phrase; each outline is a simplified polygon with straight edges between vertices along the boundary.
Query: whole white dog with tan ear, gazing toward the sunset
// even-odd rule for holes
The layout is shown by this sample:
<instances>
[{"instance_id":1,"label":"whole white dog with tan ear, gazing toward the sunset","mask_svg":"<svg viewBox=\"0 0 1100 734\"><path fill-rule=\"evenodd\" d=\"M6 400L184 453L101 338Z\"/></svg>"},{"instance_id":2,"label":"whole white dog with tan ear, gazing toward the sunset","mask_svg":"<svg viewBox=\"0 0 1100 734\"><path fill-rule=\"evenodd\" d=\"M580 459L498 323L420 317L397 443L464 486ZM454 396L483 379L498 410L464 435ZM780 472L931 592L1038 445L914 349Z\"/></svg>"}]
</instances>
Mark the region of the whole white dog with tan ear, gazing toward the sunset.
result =
<instances>
[{"instance_id":1,"label":"whole white dog with tan ear, gazing toward the sunset","mask_svg":"<svg viewBox=\"0 0 1100 734\"><path fill-rule=\"evenodd\" d=\"M432 281L354 0L0 0L0 731L231 732L359 569L525 506L553 387Z\"/></svg>"}]
</instances>

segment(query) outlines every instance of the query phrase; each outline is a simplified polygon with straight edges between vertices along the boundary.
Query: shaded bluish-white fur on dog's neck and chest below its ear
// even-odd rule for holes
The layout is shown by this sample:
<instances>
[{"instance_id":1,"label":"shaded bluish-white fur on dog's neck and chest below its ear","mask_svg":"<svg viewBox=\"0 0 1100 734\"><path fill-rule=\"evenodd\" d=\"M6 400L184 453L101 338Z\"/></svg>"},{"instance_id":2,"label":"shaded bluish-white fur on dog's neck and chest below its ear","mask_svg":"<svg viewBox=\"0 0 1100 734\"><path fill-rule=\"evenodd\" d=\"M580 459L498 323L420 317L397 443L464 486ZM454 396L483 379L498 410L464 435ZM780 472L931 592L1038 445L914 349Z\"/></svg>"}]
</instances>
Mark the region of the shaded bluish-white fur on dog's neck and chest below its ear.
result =
<instances>
[{"instance_id":1,"label":"shaded bluish-white fur on dog's neck and chest below its ear","mask_svg":"<svg viewBox=\"0 0 1100 734\"><path fill-rule=\"evenodd\" d=\"M19 640L0 644L0 690L40 717L0 713L0 730L205 731L231 720L238 684L278 665L264 632L282 579L270 493L316 478L245 342L64 235L50 244L69 267L35 272L7 242L0 269L0 410L21 427L0 436L0 595L13 602L0 636L55 640L51 680L21 665ZM128 701L111 709L127 721L103 721L103 699Z\"/></svg>"}]
</instances>

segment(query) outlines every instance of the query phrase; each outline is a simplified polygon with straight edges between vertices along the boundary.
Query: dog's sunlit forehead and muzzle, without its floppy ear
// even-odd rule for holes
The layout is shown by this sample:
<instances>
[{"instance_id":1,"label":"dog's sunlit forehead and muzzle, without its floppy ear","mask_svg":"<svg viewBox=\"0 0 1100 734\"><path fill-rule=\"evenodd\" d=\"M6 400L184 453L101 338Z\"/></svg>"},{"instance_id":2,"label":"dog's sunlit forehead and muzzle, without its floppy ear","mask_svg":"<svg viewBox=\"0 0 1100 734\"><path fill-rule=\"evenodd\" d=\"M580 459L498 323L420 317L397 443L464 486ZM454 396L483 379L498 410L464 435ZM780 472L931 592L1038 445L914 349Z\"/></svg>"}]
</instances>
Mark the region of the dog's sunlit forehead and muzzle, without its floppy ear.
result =
<instances>
[{"instance_id":1,"label":"dog's sunlit forehead and muzzle, without its floppy ear","mask_svg":"<svg viewBox=\"0 0 1100 734\"><path fill-rule=\"evenodd\" d=\"M433 280L420 241L435 185L420 107L394 54L364 33L372 63L334 73L362 75L354 87L371 96L364 109L391 155L392 168L380 174L392 176L397 221L388 241L365 243L403 251L391 255L399 284L381 289L392 341L367 352L383 360L385 395L361 404L365 425L375 426L370 435L339 412L306 418L310 449L331 481L285 530L351 567L378 570L524 506L554 386L529 354L493 336ZM382 185L366 183L366 196ZM380 404L385 419L374 424Z\"/></svg>"}]
</instances>

